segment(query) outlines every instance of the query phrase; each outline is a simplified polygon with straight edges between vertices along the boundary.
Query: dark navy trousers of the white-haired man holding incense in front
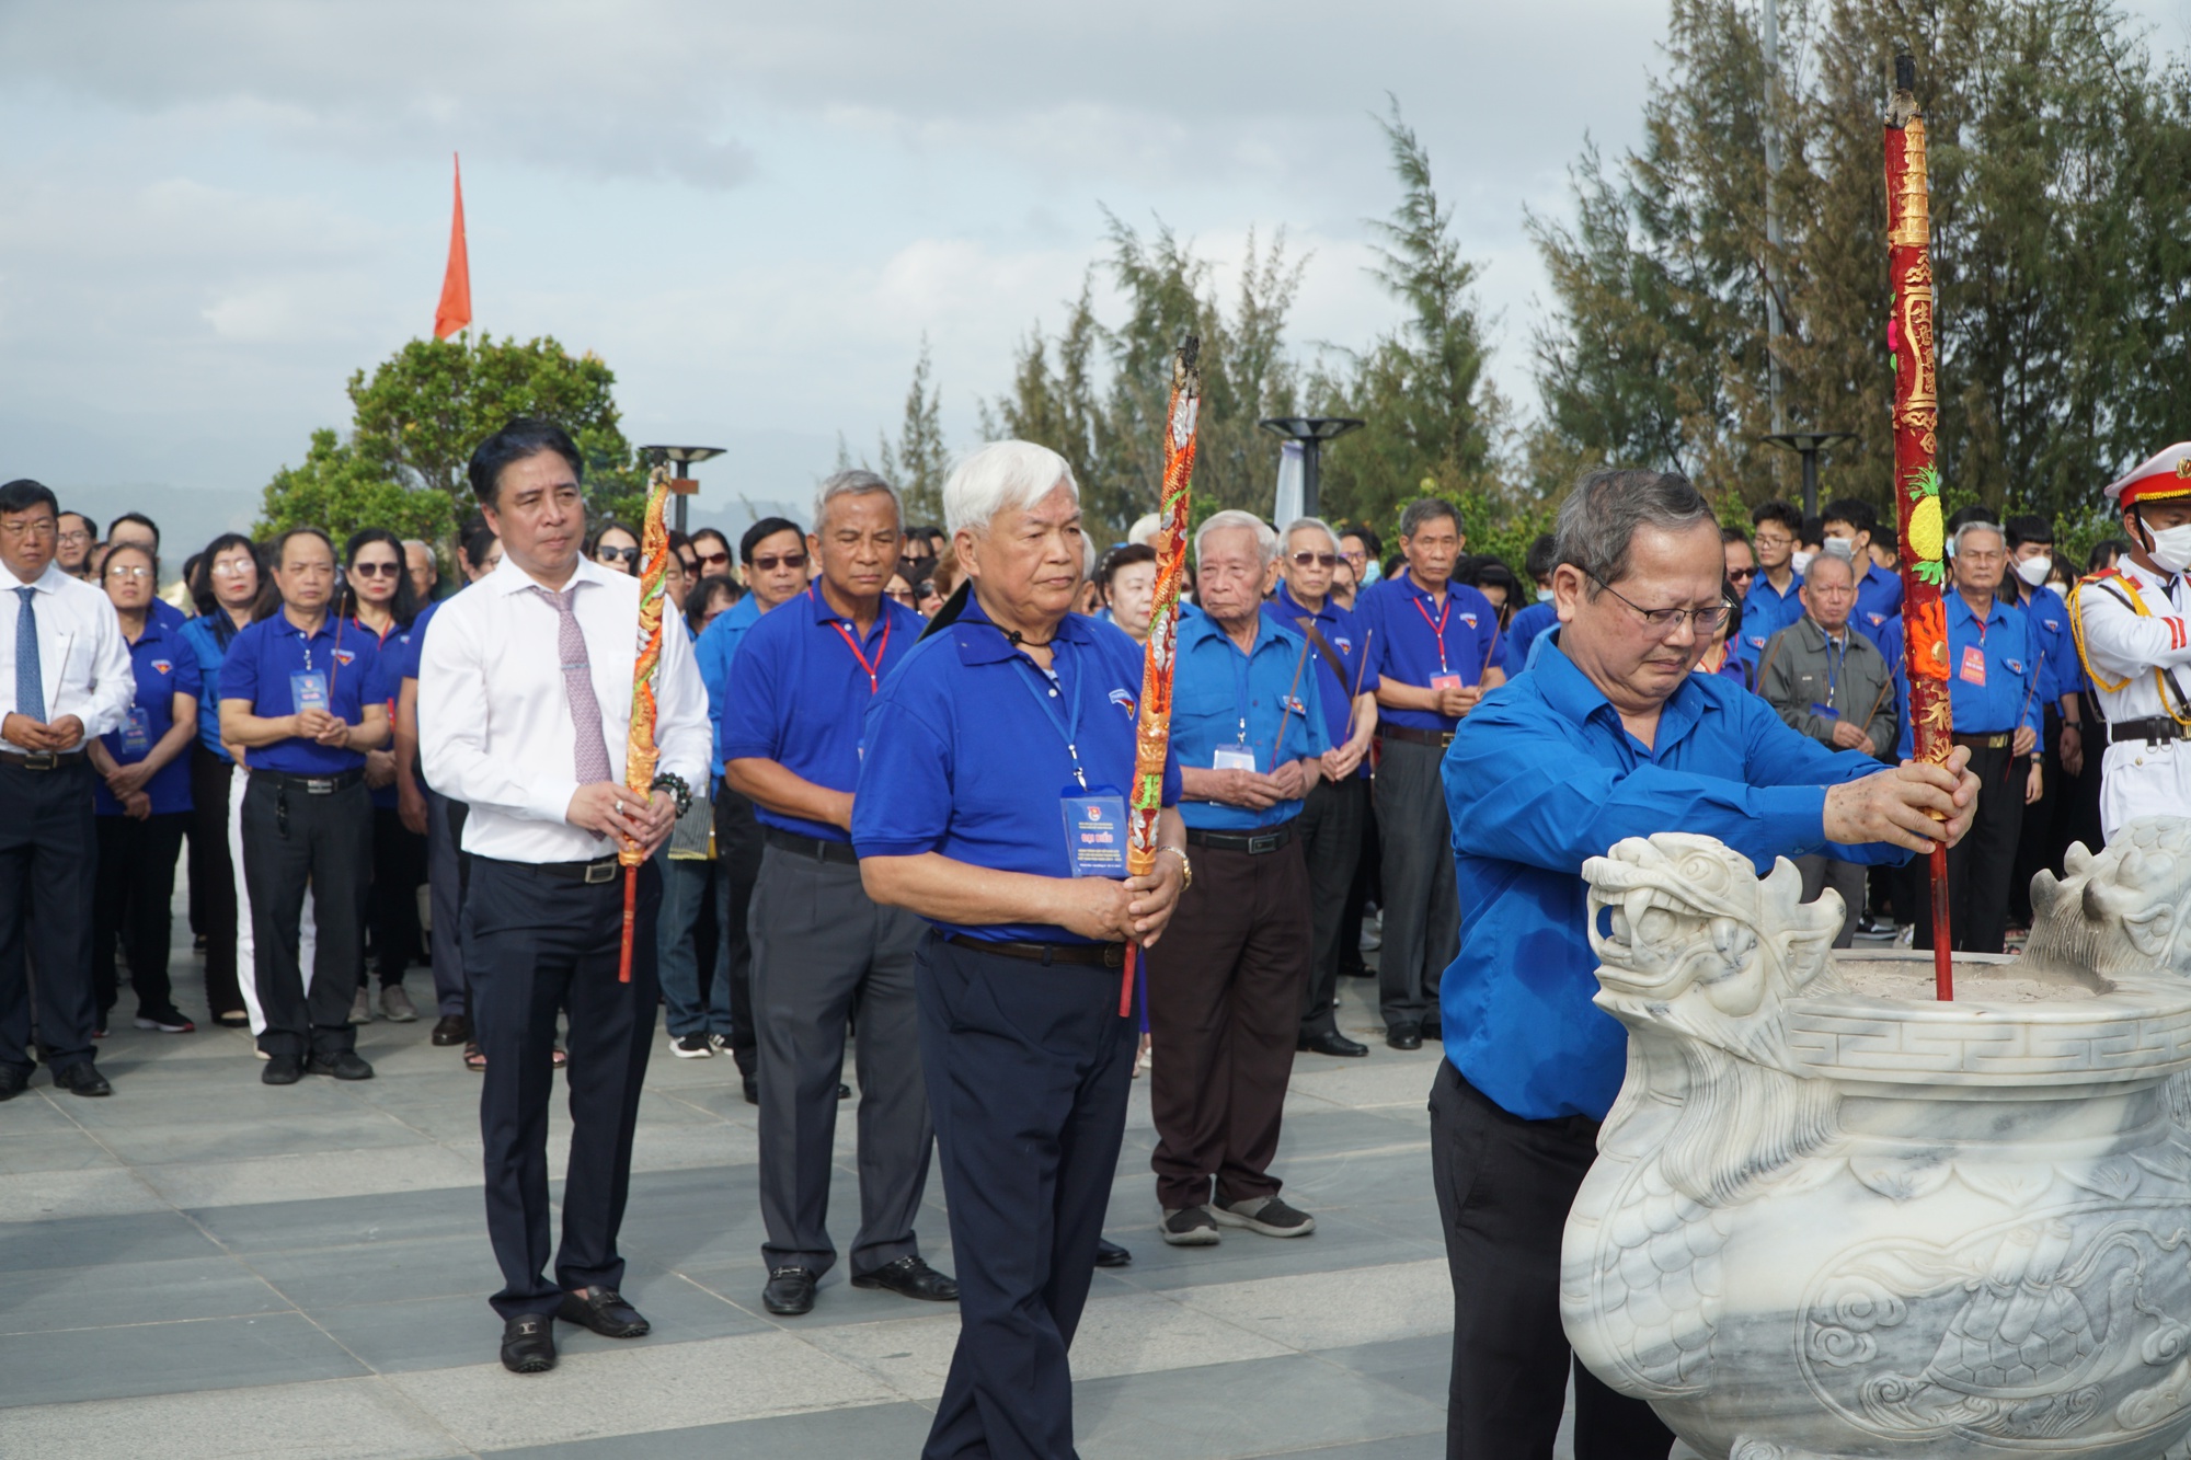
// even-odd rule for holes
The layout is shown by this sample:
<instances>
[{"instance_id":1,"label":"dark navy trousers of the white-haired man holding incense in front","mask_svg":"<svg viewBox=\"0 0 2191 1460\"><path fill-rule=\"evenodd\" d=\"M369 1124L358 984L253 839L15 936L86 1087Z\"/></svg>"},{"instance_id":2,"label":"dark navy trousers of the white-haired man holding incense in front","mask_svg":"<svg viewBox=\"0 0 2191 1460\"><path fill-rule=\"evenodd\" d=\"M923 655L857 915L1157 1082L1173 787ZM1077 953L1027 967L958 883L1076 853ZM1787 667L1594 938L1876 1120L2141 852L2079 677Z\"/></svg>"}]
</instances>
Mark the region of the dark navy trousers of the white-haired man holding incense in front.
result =
<instances>
[{"instance_id":1,"label":"dark navy trousers of the white-haired man holding incense in front","mask_svg":"<svg viewBox=\"0 0 2191 1460\"><path fill-rule=\"evenodd\" d=\"M1074 1453L1067 1364L1126 1133L1139 1022L1117 971L944 943L916 960L960 1337L925 1460Z\"/></svg>"}]
</instances>

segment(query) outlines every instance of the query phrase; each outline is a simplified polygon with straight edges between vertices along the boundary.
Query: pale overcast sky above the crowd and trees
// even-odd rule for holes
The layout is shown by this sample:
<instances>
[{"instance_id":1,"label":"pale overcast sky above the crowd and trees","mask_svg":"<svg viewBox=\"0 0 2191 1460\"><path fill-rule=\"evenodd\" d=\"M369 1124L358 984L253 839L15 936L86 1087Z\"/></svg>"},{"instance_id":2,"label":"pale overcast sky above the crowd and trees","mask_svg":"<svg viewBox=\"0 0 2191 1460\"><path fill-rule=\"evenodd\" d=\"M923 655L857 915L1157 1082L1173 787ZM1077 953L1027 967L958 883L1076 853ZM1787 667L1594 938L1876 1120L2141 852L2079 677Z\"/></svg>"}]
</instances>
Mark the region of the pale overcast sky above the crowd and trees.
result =
<instances>
[{"instance_id":1,"label":"pale overcast sky above the crowd and trees","mask_svg":"<svg viewBox=\"0 0 2191 1460\"><path fill-rule=\"evenodd\" d=\"M2141 7L2180 44L2187 0ZM1659 0L0 2L0 476L248 511L348 373L432 329L464 156L475 324L600 353L633 441L732 447L703 504L791 500L894 430L922 331L944 425L1056 324L1102 208L1225 265L1284 226L1295 340L1393 318L1363 219L1387 92L1457 204L1494 373L1534 403L1560 213L1632 145ZM743 513L741 513L743 515Z\"/></svg>"}]
</instances>

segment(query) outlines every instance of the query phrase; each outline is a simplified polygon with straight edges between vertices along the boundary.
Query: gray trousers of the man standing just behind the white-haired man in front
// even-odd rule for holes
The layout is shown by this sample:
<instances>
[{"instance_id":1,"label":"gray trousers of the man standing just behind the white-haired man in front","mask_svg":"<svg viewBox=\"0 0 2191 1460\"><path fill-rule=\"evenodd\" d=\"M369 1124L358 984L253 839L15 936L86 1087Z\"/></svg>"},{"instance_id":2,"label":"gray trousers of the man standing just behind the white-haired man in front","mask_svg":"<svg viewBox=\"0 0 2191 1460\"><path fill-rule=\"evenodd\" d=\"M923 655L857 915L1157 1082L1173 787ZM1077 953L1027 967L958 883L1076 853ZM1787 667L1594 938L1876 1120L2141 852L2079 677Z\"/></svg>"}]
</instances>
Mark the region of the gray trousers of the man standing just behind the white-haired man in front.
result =
<instances>
[{"instance_id":1,"label":"gray trousers of the man standing just behind the white-haired man in front","mask_svg":"<svg viewBox=\"0 0 2191 1460\"><path fill-rule=\"evenodd\" d=\"M765 846L747 932L760 1083L760 1217L769 1267L837 1263L828 1184L844 1030L859 1026L859 1234L852 1271L920 1252L914 1214L936 1127L920 1081L914 954L925 923L868 901L859 868Z\"/></svg>"}]
</instances>

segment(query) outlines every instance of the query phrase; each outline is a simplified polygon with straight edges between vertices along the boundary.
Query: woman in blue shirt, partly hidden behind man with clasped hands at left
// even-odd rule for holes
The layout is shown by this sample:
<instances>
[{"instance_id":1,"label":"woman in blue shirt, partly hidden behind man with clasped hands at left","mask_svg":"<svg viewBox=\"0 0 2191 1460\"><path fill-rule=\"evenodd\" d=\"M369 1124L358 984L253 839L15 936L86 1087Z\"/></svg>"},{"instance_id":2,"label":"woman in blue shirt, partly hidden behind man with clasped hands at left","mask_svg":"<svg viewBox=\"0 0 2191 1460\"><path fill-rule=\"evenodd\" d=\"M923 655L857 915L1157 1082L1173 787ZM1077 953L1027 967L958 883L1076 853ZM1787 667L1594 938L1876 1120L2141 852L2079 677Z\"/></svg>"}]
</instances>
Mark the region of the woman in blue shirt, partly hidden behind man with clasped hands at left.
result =
<instances>
[{"instance_id":1,"label":"woman in blue shirt, partly hidden behind man with clasped hands at left","mask_svg":"<svg viewBox=\"0 0 2191 1460\"><path fill-rule=\"evenodd\" d=\"M221 745L221 660L259 601L259 548L243 533L221 533L197 555L191 574L197 618L182 642L197 664L197 745L191 748L191 890L206 940L206 1008L226 1028L250 1026L237 978L239 868L228 853L228 789L237 761Z\"/></svg>"}]
</instances>

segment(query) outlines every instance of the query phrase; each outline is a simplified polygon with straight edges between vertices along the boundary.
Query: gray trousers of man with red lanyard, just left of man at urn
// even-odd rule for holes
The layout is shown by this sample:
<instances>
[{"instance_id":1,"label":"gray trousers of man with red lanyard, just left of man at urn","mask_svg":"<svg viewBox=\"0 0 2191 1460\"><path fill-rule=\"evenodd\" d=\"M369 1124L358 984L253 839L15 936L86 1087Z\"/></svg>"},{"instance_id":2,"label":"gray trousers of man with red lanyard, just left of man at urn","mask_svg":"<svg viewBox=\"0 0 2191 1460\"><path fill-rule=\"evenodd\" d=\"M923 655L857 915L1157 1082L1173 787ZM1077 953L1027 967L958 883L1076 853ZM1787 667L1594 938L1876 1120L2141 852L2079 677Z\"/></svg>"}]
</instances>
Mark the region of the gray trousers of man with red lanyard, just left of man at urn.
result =
<instances>
[{"instance_id":1,"label":"gray trousers of man with red lanyard, just left of man at urn","mask_svg":"<svg viewBox=\"0 0 2191 1460\"><path fill-rule=\"evenodd\" d=\"M1453 877L1453 822L1437 765L1446 752L1383 737L1376 824L1385 857L1385 947L1376 989L1385 1028L1437 1019L1437 984L1461 951L1461 894Z\"/></svg>"}]
</instances>

